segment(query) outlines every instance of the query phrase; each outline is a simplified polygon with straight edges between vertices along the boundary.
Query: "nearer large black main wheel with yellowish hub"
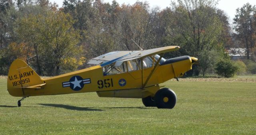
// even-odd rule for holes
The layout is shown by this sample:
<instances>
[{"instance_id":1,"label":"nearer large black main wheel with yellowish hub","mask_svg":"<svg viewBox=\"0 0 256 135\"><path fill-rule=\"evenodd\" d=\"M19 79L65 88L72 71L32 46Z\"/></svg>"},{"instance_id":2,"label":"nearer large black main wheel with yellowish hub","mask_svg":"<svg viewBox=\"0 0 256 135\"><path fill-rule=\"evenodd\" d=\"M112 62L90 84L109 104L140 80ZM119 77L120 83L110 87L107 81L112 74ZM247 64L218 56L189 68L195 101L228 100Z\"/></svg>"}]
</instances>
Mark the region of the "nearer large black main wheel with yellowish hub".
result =
<instances>
[{"instance_id":1,"label":"nearer large black main wheel with yellowish hub","mask_svg":"<svg viewBox=\"0 0 256 135\"><path fill-rule=\"evenodd\" d=\"M154 96L157 108L174 108L177 96L175 92L169 88L162 88L158 90Z\"/></svg>"}]
</instances>

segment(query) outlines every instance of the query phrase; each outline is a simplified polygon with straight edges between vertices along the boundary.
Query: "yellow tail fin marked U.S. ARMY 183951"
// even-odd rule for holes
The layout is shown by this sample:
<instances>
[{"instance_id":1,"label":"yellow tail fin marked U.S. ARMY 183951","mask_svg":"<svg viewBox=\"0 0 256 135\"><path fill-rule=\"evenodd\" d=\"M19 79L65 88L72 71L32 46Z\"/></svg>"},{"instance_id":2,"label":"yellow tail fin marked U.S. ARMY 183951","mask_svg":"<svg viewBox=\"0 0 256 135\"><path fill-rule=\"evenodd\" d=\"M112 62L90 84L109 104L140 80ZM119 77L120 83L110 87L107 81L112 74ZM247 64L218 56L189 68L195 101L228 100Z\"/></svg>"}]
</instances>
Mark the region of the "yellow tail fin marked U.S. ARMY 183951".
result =
<instances>
[{"instance_id":1,"label":"yellow tail fin marked U.S. ARMY 183951","mask_svg":"<svg viewBox=\"0 0 256 135\"><path fill-rule=\"evenodd\" d=\"M8 92L12 96L30 96L30 91L45 85L42 78L24 61L12 62L7 80ZM32 89L31 89L32 88Z\"/></svg>"}]
</instances>

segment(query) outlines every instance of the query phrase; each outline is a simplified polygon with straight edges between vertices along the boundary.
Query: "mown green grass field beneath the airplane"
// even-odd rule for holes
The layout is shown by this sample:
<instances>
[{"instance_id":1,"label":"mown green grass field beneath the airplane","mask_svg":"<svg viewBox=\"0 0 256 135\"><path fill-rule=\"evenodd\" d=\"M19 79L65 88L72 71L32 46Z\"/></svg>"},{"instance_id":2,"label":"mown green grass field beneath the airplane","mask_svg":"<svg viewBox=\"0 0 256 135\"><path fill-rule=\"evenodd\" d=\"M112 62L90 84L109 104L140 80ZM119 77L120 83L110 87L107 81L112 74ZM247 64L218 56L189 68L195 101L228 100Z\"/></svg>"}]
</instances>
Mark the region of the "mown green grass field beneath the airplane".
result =
<instances>
[{"instance_id":1,"label":"mown green grass field beneath the airplane","mask_svg":"<svg viewBox=\"0 0 256 135\"><path fill-rule=\"evenodd\" d=\"M0 134L255 134L256 77L192 78L164 85L174 109L96 93L35 96L22 101L0 79Z\"/></svg>"}]
</instances>

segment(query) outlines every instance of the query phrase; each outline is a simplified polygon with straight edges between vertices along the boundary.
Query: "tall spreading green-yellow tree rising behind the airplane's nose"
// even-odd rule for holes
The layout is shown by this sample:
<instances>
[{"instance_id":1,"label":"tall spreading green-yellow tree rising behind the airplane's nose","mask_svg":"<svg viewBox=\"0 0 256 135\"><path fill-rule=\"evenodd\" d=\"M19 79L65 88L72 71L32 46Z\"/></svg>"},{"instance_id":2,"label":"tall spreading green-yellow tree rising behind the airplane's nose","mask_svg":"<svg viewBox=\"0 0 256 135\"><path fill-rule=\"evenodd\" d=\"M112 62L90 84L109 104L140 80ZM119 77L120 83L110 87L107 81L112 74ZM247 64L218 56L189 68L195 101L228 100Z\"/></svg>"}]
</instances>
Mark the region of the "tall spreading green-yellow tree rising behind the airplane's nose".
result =
<instances>
[{"instance_id":1,"label":"tall spreading green-yellow tree rising behind the airplane's nose","mask_svg":"<svg viewBox=\"0 0 256 135\"><path fill-rule=\"evenodd\" d=\"M179 45L180 55L194 56L199 63L207 64L199 65L203 74L210 67L210 63L204 59L206 55L211 51L224 53L224 28L216 14L216 4L215 0L178 0L177 4L172 2L171 11L168 12L172 20L167 22L166 45Z\"/></svg>"}]
</instances>

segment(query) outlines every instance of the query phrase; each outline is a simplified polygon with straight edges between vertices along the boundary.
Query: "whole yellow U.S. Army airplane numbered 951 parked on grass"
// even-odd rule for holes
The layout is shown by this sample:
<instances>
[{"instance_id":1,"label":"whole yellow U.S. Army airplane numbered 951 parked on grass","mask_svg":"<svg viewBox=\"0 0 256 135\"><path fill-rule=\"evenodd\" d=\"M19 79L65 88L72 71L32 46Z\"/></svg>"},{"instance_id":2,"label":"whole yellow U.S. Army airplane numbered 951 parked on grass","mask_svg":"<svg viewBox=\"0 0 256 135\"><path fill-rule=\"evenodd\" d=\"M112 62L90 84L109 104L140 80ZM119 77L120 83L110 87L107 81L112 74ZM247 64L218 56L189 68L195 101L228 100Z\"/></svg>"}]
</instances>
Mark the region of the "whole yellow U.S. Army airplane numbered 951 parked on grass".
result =
<instances>
[{"instance_id":1,"label":"whole yellow U.S. Army airplane numbered 951 parked on grass","mask_svg":"<svg viewBox=\"0 0 256 135\"><path fill-rule=\"evenodd\" d=\"M143 104L157 108L174 108L176 94L159 84L183 76L198 59L189 56L164 59L164 53L176 51L168 46L143 51L114 51L88 61L95 66L41 78L24 61L12 62L7 88L12 96L58 95L97 92L100 97L142 98Z\"/></svg>"}]
</instances>

